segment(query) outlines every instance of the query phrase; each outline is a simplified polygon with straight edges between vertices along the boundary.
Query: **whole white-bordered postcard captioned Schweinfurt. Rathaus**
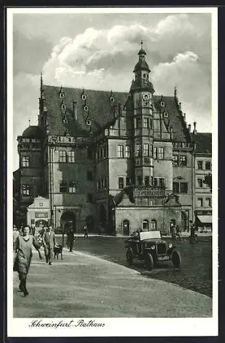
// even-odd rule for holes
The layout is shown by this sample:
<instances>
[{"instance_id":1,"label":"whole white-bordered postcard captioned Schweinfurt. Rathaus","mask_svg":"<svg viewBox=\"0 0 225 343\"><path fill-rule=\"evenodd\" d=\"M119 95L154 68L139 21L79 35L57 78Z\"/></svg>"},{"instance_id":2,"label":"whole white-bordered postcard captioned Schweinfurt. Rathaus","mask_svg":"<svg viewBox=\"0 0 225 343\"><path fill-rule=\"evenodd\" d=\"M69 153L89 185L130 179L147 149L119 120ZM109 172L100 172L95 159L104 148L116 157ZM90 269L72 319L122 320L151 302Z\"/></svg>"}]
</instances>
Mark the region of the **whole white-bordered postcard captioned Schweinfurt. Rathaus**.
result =
<instances>
[{"instance_id":1,"label":"whole white-bordered postcard captioned Schweinfurt. Rathaus","mask_svg":"<svg viewBox=\"0 0 225 343\"><path fill-rule=\"evenodd\" d=\"M8 8L7 67L8 337L216 336L217 8Z\"/></svg>"}]
</instances>

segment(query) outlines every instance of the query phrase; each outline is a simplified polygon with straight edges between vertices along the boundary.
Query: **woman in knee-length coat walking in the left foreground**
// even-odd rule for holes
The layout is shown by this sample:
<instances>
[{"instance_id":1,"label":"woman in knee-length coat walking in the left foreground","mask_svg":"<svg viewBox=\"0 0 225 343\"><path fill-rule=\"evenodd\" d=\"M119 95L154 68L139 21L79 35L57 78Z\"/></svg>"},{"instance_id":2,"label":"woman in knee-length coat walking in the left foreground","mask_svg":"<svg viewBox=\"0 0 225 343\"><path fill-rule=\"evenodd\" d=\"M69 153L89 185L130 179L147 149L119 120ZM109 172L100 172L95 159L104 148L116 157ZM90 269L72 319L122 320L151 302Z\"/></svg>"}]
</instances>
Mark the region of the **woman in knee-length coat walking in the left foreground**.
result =
<instances>
[{"instance_id":1,"label":"woman in knee-length coat walking in the left foreground","mask_svg":"<svg viewBox=\"0 0 225 343\"><path fill-rule=\"evenodd\" d=\"M27 291L27 274L29 272L29 265L32 260L32 245L38 250L39 258L43 257L40 254L40 246L33 235L29 235L29 226L23 228L23 235L18 235L14 245L14 272L19 274L19 289L24 296L29 293Z\"/></svg>"}]
</instances>

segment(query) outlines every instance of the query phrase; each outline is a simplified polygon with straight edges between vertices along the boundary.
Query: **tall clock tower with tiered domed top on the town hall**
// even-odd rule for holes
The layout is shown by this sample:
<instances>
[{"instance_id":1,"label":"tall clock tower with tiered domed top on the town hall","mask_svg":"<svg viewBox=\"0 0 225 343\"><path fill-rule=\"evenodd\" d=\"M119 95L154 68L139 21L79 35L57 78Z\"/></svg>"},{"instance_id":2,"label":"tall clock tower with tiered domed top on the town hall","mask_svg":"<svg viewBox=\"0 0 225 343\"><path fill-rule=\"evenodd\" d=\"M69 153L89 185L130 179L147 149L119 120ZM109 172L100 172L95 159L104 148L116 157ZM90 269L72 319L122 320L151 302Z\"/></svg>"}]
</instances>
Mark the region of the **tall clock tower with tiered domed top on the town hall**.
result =
<instances>
[{"instance_id":1,"label":"tall clock tower with tiered domed top on the town hall","mask_svg":"<svg viewBox=\"0 0 225 343\"><path fill-rule=\"evenodd\" d=\"M142 41L138 55L139 61L134 67L134 80L130 87L134 184L151 186L153 184L154 87L150 82L150 68L145 61L146 52Z\"/></svg>"}]
</instances>

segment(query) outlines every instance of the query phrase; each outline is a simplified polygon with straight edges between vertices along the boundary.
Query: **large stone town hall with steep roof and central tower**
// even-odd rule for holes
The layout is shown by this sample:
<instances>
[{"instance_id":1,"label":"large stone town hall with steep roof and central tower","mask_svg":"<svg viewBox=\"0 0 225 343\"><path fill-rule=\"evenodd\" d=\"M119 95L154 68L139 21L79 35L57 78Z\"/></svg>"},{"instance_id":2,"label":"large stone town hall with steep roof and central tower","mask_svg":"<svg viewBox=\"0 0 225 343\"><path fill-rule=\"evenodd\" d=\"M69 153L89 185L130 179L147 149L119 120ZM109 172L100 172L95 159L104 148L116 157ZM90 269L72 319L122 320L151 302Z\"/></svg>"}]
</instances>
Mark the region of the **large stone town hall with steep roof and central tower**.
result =
<instances>
[{"instance_id":1,"label":"large stone town hall with steep roof and central tower","mask_svg":"<svg viewBox=\"0 0 225 343\"><path fill-rule=\"evenodd\" d=\"M14 172L27 224L128 235L186 230L195 220L196 126L191 132L176 89L154 95L142 45L138 56L128 93L47 86L41 77L38 126L18 137Z\"/></svg>"}]
</instances>

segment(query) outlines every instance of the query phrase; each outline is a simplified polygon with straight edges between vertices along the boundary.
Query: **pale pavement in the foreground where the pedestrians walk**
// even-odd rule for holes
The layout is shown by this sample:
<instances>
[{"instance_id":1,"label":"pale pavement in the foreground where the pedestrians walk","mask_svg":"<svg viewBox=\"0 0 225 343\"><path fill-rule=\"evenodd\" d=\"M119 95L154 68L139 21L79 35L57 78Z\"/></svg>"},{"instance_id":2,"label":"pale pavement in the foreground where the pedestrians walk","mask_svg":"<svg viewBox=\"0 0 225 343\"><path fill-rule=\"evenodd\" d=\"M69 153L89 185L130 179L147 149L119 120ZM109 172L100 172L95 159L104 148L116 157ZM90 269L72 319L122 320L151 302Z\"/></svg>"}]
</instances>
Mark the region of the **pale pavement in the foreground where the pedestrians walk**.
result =
<instances>
[{"instance_id":1,"label":"pale pavement in the foreground where the pedestrians walk","mask_svg":"<svg viewBox=\"0 0 225 343\"><path fill-rule=\"evenodd\" d=\"M14 272L14 317L210 317L212 299L146 278L135 270L83 252L67 252L47 265L34 251L27 278L29 296L18 291Z\"/></svg>"}]
</instances>

